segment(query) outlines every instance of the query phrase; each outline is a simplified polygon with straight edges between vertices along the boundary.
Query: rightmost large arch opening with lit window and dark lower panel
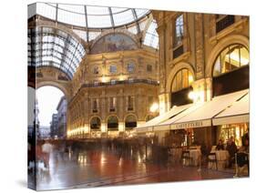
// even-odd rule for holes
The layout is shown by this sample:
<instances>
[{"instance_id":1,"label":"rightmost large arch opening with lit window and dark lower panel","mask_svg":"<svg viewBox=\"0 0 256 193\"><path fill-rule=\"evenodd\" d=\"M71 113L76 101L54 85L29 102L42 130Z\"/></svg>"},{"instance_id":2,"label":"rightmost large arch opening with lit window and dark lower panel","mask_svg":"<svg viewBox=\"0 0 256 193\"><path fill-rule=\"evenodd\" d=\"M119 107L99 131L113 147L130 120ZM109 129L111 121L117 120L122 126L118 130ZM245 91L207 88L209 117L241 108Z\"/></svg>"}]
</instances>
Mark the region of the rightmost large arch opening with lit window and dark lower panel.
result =
<instances>
[{"instance_id":1,"label":"rightmost large arch opening with lit window and dark lower panel","mask_svg":"<svg viewBox=\"0 0 256 193\"><path fill-rule=\"evenodd\" d=\"M249 88L249 64L245 46L232 44L222 49L212 65L213 96Z\"/></svg>"}]
</instances>

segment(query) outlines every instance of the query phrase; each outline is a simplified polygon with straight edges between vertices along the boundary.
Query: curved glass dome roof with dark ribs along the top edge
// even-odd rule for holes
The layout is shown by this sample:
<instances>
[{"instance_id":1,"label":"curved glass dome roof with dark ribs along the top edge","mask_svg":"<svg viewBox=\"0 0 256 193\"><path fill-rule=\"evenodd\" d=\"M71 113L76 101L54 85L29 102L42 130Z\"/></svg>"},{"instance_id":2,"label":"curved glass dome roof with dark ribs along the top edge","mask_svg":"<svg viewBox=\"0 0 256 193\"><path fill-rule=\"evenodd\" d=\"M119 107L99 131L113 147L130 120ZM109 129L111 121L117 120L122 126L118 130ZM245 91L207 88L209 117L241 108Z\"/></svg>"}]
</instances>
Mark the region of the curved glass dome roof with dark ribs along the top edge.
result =
<instances>
[{"instance_id":1,"label":"curved glass dome roof with dark ribs along the top edge","mask_svg":"<svg viewBox=\"0 0 256 193\"><path fill-rule=\"evenodd\" d=\"M51 3L32 4L28 10L28 17L42 15L57 22L87 28L128 25L149 14L148 9Z\"/></svg>"}]
</instances>

